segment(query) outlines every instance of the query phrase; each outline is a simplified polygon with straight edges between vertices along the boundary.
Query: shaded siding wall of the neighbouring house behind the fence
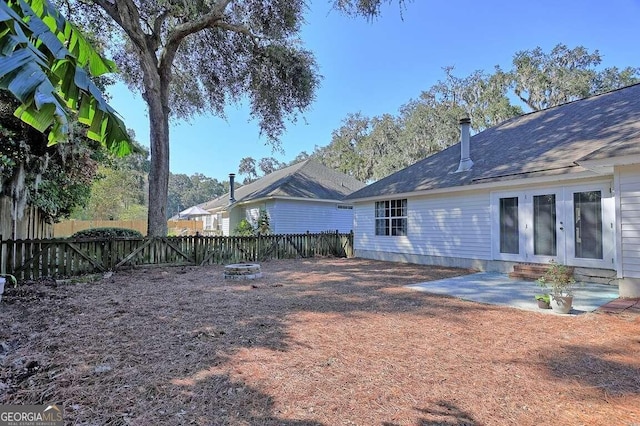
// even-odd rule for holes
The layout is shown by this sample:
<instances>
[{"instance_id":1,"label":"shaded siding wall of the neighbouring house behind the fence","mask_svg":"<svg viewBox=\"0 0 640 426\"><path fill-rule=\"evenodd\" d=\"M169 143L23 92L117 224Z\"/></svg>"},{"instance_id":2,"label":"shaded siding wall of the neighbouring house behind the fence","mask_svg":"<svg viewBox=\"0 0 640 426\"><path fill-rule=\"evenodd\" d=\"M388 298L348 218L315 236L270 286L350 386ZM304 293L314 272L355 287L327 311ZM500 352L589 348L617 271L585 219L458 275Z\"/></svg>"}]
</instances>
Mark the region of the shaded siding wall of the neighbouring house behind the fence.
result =
<instances>
[{"instance_id":1,"label":"shaded siding wall of the neighbouring house behind the fence","mask_svg":"<svg viewBox=\"0 0 640 426\"><path fill-rule=\"evenodd\" d=\"M336 230L351 232L353 210L339 209L338 203L274 200L267 206L271 232L301 234Z\"/></svg>"}]
</instances>

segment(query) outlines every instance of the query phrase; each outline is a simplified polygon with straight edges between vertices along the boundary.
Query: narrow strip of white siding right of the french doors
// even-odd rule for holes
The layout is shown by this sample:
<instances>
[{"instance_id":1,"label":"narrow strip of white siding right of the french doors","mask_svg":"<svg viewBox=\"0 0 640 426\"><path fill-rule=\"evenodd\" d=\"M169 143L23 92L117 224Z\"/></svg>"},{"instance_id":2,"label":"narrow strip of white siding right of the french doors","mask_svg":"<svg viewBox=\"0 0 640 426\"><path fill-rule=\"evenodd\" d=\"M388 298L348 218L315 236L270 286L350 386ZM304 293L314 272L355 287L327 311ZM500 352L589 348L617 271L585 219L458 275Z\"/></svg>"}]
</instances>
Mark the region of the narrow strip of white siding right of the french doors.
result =
<instances>
[{"instance_id":1,"label":"narrow strip of white siding right of the french doors","mask_svg":"<svg viewBox=\"0 0 640 426\"><path fill-rule=\"evenodd\" d=\"M619 174L622 276L640 278L640 166Z\"/></svg>"}]
</instances>

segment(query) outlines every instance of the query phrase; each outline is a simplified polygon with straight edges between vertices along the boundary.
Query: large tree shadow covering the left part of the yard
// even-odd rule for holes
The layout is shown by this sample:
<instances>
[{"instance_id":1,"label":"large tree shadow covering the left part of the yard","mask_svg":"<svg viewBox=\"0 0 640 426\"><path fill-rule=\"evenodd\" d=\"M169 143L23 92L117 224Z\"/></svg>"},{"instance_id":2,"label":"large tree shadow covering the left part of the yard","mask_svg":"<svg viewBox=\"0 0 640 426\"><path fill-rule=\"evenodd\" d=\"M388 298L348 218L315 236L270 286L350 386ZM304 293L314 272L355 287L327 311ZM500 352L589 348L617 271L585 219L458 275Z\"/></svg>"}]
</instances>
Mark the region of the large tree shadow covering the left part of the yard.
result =
<instances>
[{"instance_id":1,"label":"large tree shadow covering the left part of the yard","mask_svg":"<svg viewBox=\"0 0 640 426\"><path fill-rule=\"evenodd\" d=\"M447 326L463 328L476 311L496 309L402 287L460 270L430 277L427 267L390 262L345 262L343 269L335 260L300 262L297 271L291 263L265 265L265 278L254 283L224 282L222 267L207 267L131 270L98 283L48 288L46 302L28 300L0 313L0 329L11 330L0 338L19 339L5 354L6 364L37 359L41 367L21 383L9 377L19 368L3 372L0 379L8 379L11 393L0 394L0 402L40 403L46 392L50 400L80 407L73 418L96 424L144 424L146 416L164 412L158 424L320 426L284 419L272 396L247 385L259 383L255 375L235 371L242 355L255 355L248 350L304 346L291 335L291 318L408 313L446 317ZM20 323L11 317L18 314ZM141 398L146 402L136 408L128 404ZM101 416L96 407L112 412L112 421L92 418ZM215 410L226 411L218 412L220 421L207 421ZM425 417L422 425L473 424L470 415L445 402L421 412L448 416L440 423ZM305 416L292 409L286 417Z\"/></svg>"}]
</instances>

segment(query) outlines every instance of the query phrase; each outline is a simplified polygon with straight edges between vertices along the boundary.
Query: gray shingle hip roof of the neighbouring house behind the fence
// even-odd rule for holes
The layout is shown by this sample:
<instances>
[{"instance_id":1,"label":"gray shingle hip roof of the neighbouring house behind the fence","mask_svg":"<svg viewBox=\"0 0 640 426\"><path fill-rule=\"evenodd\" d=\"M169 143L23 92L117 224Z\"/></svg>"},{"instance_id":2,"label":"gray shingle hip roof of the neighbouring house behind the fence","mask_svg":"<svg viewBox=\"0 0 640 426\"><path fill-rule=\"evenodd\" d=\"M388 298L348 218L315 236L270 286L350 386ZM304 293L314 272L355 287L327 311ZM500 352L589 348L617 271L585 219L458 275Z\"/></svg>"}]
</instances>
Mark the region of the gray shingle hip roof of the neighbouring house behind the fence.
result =
<instances>
[{"instance_id":1,"label":"gray shingle hip roof of the neighbouring house behind the fence","mask_svg":"<svg viewBox=\"0 0 640 426\"><path fill-rule=\"evenodd\" d=\"M311 200L342 200L365 186L344 173L332 170L316 160L305 160L293 166L276 170L235 190L236 202L247 202L270 197L307 198ZM229 193L200 207L214 210L229 204Z\"/></svg>"}]
</instances>

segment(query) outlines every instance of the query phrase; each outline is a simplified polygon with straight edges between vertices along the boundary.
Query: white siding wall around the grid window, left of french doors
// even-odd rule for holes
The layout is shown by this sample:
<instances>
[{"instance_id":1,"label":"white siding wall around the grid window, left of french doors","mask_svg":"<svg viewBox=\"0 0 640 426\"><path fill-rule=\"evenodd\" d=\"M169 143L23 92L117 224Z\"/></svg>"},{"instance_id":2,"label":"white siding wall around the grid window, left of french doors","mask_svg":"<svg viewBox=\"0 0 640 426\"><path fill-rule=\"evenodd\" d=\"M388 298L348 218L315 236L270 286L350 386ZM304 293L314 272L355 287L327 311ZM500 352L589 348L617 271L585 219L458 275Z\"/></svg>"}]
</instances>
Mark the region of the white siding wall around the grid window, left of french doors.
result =
<instances>
[{"instance_id":1,"label":"white siding wall around the grid window, left of french doors","mask_svg":"<svg viewBox=\"0 0 640 426\"><path fill-rule=\"evenodd\" d=\"M354 209L355 249L423 256L491 259L488 192L407 200L407 236L375 235L375 203Z\"/></svg>"}]
</instances>

